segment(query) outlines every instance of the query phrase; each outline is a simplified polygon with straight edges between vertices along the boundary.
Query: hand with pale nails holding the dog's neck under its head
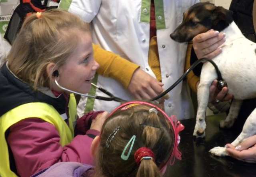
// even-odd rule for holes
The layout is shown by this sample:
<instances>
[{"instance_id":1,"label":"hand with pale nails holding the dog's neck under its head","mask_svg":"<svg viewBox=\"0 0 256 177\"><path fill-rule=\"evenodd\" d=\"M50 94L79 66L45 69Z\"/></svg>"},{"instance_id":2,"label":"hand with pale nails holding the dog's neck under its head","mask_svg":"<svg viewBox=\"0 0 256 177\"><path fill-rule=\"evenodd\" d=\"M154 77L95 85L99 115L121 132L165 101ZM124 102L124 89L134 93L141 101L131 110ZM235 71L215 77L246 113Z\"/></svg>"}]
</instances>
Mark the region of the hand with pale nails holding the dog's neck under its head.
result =
<instances>
[{"instance_id":1,"label":"hand with pale nails holding the dog's neck under its head","mask_svg":"<svg viewBox=\"0 0 256 177\"><path fill-rule=\"evenodd\" d=\"M222 52L220 46L226 41L226 34L214 30L198 34L193 38L193 48L198 59L214 58Z\"/></svg>"}]
</instances>

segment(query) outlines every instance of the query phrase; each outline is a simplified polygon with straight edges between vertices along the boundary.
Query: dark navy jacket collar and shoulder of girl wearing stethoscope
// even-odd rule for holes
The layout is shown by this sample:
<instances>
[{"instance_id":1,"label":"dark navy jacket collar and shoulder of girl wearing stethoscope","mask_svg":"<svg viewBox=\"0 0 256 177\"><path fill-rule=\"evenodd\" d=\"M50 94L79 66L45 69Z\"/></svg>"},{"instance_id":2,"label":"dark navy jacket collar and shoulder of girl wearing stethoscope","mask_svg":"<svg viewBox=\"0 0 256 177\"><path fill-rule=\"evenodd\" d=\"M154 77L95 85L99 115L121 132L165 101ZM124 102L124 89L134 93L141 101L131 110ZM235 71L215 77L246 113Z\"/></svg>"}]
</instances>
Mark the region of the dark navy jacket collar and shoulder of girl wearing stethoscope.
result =
<instances>
[{"instance_id":1,"label":"dark navy jacket collar and shoulder of girl wearing stethoscope","mask_svg":"<svg viewBox=\"0 0 256 177\"><path fill-rule=\"evenodd\" d=\"M0 68L0 83L0 116L19 105L31 102L48 103L58 113L65 113L68 100L63 94L54 98L41 91L34 91L31 86L16 78L6 64Z\"/></svg>"}]
</instances>

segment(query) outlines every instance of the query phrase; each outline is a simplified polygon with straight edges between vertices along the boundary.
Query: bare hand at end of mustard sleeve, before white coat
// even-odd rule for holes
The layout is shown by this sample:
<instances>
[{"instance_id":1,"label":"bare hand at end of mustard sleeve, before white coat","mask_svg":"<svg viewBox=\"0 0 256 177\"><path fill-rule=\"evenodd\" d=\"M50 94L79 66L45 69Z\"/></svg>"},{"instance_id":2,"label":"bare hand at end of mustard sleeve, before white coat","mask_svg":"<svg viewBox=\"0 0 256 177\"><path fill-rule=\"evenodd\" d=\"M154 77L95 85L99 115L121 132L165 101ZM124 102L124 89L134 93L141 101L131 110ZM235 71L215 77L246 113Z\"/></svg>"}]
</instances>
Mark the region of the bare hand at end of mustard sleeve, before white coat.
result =
<instances>
[{"instance_id":1,"label":"bare hand at end of mustard sleeve, before white coat","mask_svg":"<svg viewBox=\"0 0 256 177\"><path fill-rule=\"evenodd\" d=\"M135 99L150 99L162 93L163 86L162 82L138 68L132 75L128 90Z\"/></svg>"}]
</instances>

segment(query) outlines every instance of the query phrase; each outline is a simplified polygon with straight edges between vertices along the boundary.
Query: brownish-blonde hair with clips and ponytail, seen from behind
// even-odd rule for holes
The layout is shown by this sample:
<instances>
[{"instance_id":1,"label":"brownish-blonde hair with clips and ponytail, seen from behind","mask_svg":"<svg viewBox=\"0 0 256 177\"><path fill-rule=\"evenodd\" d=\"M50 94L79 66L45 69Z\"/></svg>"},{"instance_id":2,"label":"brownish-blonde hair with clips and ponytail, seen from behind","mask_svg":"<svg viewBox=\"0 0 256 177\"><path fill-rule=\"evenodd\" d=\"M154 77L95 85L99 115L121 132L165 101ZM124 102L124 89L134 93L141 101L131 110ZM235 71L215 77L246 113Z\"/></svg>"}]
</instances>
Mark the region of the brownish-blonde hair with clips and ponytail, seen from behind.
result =
<instances>
[{"instance_id":1,"label":"brownish-blonde hair with clips and ponytail, seen from behind","mask_svg":"<svg viewBox=\"0 0 256 177\"><path fill-rule=\"evenodd\" d=\"M95 176L102 177L160 177L174 146L174 133L170 122L160 111L150 112L148 105L135 105L126 110L117 110L102 127L97 153ZM109 136L116 128L114 138ZM128 160L121 159L124 147L136 135ZM155 159L142 160L138 165L134 153L140 147L147 147Z\"/></svg>"}]
</instances>

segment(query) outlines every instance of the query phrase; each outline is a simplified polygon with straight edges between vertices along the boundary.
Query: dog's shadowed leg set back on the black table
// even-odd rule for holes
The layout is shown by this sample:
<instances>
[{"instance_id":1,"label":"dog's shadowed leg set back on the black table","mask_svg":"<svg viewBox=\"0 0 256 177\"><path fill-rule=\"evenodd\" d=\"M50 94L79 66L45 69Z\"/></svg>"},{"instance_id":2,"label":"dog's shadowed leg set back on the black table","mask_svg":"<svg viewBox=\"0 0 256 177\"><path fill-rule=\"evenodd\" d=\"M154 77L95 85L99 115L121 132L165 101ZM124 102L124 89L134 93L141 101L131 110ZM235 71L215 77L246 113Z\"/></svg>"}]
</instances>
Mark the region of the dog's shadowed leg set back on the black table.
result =
<instances>
[{"instance_id":1,"label":"dog's shadowed leg set back on the black table","mask_svg":"<svg viewBox=\"0 0 256 177\"><path fill-rule=\"evenodd\" d=\"M242 103L243 103L243 100L233 99L229 109L228 116L226 117L225 120L220 121L221 128L230 128L233 126L234 121L238 116Z\"/></svg>"}]
</instances>

